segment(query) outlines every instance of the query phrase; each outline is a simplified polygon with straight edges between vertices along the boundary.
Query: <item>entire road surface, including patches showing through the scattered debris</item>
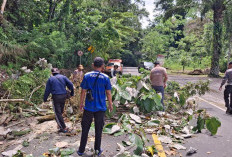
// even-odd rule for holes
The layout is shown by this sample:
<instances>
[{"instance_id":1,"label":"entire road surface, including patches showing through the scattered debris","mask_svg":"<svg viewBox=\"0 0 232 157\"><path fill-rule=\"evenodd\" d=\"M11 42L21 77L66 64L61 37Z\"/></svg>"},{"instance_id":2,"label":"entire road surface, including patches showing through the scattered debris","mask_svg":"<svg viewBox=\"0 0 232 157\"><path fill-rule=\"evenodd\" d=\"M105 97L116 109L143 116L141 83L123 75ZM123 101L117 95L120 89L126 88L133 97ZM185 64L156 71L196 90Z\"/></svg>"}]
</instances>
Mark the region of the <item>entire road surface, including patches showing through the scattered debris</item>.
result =
<instances>
[{"instance_id":1,"label":"entire road surface, including patches showing through the scattered debris","mask_svg":"<svg viewBox=\"0 0 232 157\"><path fill-rule=\"evenodd\" d=\"M132 75L139 75L137 68L135 67L125 67L124 74L131 73ZM197 82L199 80L207 80L209 78L202 76L188 76L188 75L179 75L179 74L169 74L169 80L177 81L181 85L184 85L187 82ZM186 139L183 144L187 149L189 147L194 147L198 151L196 154L193 154L193 157L231 157L232 155L232 116L225 114L225 107L223 102L223 93L218 91L221 79L211 79L210 83L210 92L200 97L199 108L204 108L207 112L219 118L221 121L221 127L218 130L217 135L211 136L209 132L204 130L200 134L196 134L193 138ZM41 137L35 138L30 142L29 147L24 147L22 150L26 153L32 153L34 156L40 156L44 152L47 152L49 148L54 148L54 145L60 141L66 141L69 143L70 147L77 149L80 140L80 133L73 137L66 137L64 135L57 135L56 133L56 122L48 122L49 127L53 128L54 131L41 134ZM108 123L108 122L106 122ZM42 123L43 124L43 123ZM37 124L36 124L37 125ZM46 123L44 124L46 125ZM43 126L46 127L46 126ZM41 127L41 128L43 128ZM80 129L80 126L78 126ZM78 128L77 128L78 129ZM90 136L88 140L88 147L93 148L94 146L94 131L90 131ZM153 145L153 140L150 135L148 135L151 145ZM118 152L116 143L121 143L121 141L128 139L126 135L113 137L110 135L103 134L102 148L104 149L103 157L113 157ZM11 146L8 150L13 149L14 146ZM164 149L168 148L164 145ZM90 157L91 152L86 151L87 155L85 157ZM182 156L186 156L186 150L180 151ZM73 154L76 157L76 154Z\"/></svg>"}]
</instances>

